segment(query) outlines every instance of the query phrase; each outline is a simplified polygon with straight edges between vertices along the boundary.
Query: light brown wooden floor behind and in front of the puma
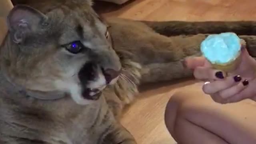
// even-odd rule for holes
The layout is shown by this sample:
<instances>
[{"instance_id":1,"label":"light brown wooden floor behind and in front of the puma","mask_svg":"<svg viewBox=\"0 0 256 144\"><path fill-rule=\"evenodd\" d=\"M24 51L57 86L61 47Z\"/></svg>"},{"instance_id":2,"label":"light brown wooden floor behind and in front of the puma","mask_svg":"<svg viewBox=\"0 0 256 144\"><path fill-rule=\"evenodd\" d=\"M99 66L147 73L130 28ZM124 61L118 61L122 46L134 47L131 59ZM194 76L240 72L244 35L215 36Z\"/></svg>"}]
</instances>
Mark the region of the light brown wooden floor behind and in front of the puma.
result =
<instances>
[{"instance_id":1,"label":"light brown wooden floor behind and in front of the puma","mask_svg":"<svg viewBox=\"0 0 256 144\"><path fill-rule=\"evenodd\" d=\"M256 20L256 0L131 0L118 6L96 2L103 16L133 20ZM164 108L172 93L193 81L142 92L142 99L125 113L122 123L138 144L175 144L164 126Z\"/></svg>"}]
</instances>

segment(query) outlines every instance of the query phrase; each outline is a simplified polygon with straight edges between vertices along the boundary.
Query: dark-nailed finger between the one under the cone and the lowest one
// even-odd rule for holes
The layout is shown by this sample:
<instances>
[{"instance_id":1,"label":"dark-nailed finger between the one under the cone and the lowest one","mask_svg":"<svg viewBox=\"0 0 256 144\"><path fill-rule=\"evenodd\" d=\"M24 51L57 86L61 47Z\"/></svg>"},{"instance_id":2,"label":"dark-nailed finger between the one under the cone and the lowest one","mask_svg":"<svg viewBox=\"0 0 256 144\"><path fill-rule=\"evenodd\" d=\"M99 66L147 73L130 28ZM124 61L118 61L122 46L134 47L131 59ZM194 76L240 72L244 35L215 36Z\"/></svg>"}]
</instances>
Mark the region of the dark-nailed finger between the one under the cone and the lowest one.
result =
<instances>
[{"instance_id":1,"label":"dark-nailed finger between the one under the cone and the lowest one","mask_svg":"<svg viewBox=\"0 0 256 144\"><path fill-rule=\"evenodd\" d=\"M206 94L214 94L238 84L241 80L241 76L229 76L224 80L217 80L204 84L202 89Z\"/></svg>"}]
</instances>

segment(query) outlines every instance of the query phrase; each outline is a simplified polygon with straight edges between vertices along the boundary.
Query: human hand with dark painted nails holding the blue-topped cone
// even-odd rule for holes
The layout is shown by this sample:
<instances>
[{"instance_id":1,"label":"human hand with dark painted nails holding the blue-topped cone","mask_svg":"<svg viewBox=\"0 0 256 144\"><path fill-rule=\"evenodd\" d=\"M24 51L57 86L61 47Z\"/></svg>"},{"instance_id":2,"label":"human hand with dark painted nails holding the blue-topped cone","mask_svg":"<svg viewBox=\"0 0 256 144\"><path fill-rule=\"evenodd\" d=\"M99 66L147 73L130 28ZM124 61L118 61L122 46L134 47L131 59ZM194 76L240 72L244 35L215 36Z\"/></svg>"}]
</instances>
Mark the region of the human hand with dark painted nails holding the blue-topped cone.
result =
<instances>
[{"instance_id":1,"label":"human hand with dark painted nails holding the blue-topped cone","mask_svg":"<svg viewBox=\"0 0 256 144\"><path fill-rule=\"evenodd\" d=\"M204 57L187 58L185 65L194 70L195 78L205 81L202 90L222 104L250 98L256 100L256 60L242 46L241 63L236 70L225 73L212 68Z\"/></svg>"}]
</instances>

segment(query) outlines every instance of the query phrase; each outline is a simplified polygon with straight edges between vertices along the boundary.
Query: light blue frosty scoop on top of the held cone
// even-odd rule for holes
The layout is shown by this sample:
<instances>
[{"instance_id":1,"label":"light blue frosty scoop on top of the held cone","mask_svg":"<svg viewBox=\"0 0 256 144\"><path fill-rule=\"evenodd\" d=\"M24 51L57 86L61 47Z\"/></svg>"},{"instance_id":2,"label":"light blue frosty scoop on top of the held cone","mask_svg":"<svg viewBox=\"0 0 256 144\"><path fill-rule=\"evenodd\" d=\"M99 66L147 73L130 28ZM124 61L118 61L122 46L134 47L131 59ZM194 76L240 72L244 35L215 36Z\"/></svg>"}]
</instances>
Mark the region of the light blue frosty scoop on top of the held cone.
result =
<instances>
[{"instance_id":1,"label":"light blue frosty scoop on top of the held cone","mask_svg":"<svg viewBox=\"0 0 256 144\"><path fill-rule=\"evenodd\" d=\"M201 52L212 64L225 64L240 54L240 38L232 32L209 35L201 43Z\"/></svg>"}]
</instances>

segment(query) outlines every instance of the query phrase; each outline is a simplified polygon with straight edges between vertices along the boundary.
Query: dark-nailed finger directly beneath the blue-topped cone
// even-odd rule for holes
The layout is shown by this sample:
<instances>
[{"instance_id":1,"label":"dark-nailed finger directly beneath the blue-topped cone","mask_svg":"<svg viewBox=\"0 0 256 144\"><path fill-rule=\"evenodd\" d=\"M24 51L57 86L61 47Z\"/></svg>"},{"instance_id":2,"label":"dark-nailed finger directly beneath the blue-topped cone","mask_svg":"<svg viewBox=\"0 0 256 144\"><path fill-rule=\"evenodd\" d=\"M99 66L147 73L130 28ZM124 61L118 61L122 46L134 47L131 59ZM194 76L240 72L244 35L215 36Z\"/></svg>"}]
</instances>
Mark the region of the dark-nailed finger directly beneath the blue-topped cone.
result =
<instances>
[{"instance_id":1,"label":"dark-nailed finger directly beneath the blue-topped cone","mask_svg":"<svg viewBox=\"0 0 256 144\"><path fill-rule=\"evenodd\" d=\"M222 72L220 70L200 66L194 70L194 76L199 80L220 80L224 79L227 74L226 72Z\"/></svg>"}]
</instances>

